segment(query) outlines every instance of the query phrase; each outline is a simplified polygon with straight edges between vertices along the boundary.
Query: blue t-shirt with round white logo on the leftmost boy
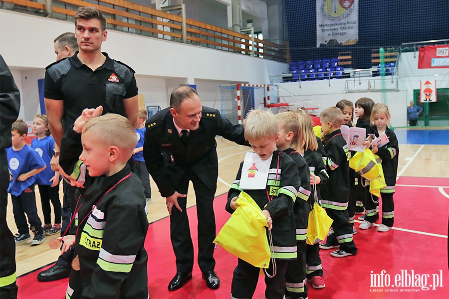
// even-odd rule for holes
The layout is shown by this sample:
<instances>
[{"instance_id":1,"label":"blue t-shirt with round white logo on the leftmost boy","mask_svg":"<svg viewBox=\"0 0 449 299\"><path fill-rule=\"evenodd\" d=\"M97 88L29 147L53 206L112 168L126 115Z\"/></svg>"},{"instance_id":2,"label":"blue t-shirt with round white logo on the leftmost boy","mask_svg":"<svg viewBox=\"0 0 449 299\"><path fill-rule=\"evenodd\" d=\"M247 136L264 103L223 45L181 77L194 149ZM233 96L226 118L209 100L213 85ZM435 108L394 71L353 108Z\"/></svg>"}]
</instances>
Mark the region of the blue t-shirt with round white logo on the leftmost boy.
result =
<instances>
[{"instance_id":1,"label":"blue t-shirt with round white logo on the leftmost boy","mask_svg":"<svg viewBox=\"0 0 449 299\"><path fill-rule=\"evenodd\" d=\"M11 148L6 149L6 155L8 158L8 168L12 173L13 180L9 182L8 192L14 196L19 196L22 192L34 184L36 176L30 176L24 181L17 180L17 177L29 172L33 169L42 168L45 166L45 162L40 155L30 146L25 145L23 149L14 150Z\"/></svg>"}]
</instances>

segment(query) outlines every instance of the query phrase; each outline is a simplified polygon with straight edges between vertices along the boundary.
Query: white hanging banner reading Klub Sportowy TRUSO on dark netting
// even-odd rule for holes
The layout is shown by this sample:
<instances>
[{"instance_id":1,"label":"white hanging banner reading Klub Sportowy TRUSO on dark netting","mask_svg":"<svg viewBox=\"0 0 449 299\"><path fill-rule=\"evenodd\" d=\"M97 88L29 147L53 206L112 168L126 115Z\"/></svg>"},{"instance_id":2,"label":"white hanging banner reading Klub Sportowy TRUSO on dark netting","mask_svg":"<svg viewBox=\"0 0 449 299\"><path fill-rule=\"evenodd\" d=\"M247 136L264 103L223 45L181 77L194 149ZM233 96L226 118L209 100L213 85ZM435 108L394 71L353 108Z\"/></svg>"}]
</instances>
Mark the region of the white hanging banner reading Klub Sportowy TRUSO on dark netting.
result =
<instances>
[{"instance_id":1,"label":"white hanging banner reading Klub Sportowy TRUSO on dark netting","mask_svg":"<svg viewBox=\"0 0 449 299\"><path fill-rule=\"evenodd\" d=\"M359 0L316 0L316 46L353 45L359 38Z\"/></svg>"}]
</instances>

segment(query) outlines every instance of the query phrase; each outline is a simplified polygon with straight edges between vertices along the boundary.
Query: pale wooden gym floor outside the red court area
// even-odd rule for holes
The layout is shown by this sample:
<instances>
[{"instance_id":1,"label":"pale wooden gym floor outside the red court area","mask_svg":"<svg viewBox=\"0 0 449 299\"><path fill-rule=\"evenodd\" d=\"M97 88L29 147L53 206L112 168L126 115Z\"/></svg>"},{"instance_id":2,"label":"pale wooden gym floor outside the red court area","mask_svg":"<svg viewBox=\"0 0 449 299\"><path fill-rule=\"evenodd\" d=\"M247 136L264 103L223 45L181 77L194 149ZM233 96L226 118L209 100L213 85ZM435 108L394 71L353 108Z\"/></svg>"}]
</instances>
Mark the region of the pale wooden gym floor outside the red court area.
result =
<instances>
[{"instance_id":1,"label":"pale wooden gym floor outside the red court area","mask_svg":"<svg viewBox=\"0 0 449 299\"><path fill-rule=\"evenodd\" d=\"M219 181L217 183L216 195L220 195L229 190L229 186L238 170L238 165L243 160L244 154L250 148L238 146L220 137L217 138L217 144ZM449 178L448 169L448 145L400 145L398 176ZM165 198L160 196L157 186L153 181L151 188L153 202L148 204L150 223L168 216ZM62 186L59 189L59 193L62 202ZM37 186L36 203L39 216L43 219ZM189 188L188 207L193 205L195 205L195 193L191 185ZM7 223L11 232L13 234L17 233L10 199L8 202ZM58 236L59 234L47 236L42 244L33 247L27 243L18 244L16 246L17 276L55 262L58 258L59 250L49 249L48 242Z\"/></svg>"}]
</instances>

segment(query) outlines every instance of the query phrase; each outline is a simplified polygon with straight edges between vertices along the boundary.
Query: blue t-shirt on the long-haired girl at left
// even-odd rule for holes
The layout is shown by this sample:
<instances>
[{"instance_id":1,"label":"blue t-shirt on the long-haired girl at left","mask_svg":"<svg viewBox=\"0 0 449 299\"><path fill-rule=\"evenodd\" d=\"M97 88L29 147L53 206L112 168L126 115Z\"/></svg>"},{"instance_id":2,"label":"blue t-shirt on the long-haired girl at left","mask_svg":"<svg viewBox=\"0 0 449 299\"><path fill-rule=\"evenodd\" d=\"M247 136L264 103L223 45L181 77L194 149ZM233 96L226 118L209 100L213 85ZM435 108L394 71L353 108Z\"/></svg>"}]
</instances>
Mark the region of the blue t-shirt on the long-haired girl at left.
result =
<instances>
[{"instance_id":1,"label":"blue t-shirt on the long-haired girl at left","mask_svg":"<svg viewBox=\"0 0 449 299\"><path fill-rule=\"evenodd\" d=\"M52 136L45 136L42 139L35 138L31 141L31 148L34 149L44 160L47 167L36 174L36 184L51 185L50 178L54 176L51 170L50 160L53 157L54 139ZM60 178L60 177L59 177Z\"/></svg>"}]
</instances>

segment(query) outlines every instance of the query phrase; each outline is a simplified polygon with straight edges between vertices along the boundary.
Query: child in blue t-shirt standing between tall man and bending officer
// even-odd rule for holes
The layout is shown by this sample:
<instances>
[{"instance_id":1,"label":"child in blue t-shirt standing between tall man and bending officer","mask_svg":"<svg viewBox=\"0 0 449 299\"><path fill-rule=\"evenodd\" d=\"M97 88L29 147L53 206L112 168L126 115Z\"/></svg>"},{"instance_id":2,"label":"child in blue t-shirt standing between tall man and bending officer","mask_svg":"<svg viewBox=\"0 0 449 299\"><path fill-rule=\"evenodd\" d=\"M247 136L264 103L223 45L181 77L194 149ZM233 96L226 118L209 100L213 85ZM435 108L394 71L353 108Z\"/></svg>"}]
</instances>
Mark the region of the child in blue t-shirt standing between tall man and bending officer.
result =
<instances>
[{"instance_id":1,"label":"child in blue t-shirt standing between tall man and bending officer","mask_svg":"<svg viewBox=\"0 0 449 299\"><path fill-rule=\"evenodd\" d=\"M139 108L139 118L136 130L137 146L133 151L134 169L133 172L140 178L145 189L145 201L153 202L151 199L150 173L148 173L145 160L143 158L143 145L145 141L145 122L147 121L147 112Z\"/></svg>"}]
</instances>

